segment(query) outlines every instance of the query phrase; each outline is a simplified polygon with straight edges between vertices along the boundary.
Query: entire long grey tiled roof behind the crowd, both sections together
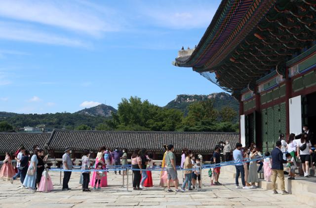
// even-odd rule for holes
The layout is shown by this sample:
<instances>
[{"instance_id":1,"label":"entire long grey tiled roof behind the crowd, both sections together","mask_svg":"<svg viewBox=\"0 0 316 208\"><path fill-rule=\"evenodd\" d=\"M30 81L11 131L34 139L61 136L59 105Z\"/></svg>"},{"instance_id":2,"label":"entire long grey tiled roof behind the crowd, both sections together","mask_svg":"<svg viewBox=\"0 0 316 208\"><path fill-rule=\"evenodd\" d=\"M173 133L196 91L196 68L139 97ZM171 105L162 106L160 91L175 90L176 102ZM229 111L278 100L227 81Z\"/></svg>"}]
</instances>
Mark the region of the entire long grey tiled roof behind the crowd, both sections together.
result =
<instances>
[{"instance_id":1,"label":"entire long grey tiled roof behind the crowd, both sections together","mask_svg":"<svg viewBox=\"0 0 316 208\"><path fill-rule=\"evenodd\" d=\"M21 144L32 149L34 144L51 150L97 150L100 146L129 150L146 148L162 151L162 144L173 144L176 150L188 148L210 152L220 141L239 141L237 133L224 132L131 132L131 131L72 131L55 129L51 134L0 133L0 153L15 151Z\"/></svg>"}]
</instances>

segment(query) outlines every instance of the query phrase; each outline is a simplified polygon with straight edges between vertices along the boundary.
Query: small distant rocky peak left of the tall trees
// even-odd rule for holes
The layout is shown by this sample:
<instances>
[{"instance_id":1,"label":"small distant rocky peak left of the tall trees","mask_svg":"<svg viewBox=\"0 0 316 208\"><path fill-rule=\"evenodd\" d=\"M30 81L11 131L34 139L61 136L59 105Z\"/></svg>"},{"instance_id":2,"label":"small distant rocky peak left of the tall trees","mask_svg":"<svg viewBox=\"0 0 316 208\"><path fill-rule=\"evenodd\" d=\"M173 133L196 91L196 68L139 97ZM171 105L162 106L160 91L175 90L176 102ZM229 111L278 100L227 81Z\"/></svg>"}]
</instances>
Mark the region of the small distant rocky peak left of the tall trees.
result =
<instances>
[{"instance_id":1,"label":"small distant rocky peak left of the tall trees","mask_svg":"<svg viewBox=\"0 0 316 208\"><path fill-rule=\"evenodd\" d=\"M95 107L84 108L83 110L79 110L75 112L75 114L110 117L112 115L112 112L116 113L117 111L117 109L110 105L99 104Z\"/></svg>"}]
</instances>

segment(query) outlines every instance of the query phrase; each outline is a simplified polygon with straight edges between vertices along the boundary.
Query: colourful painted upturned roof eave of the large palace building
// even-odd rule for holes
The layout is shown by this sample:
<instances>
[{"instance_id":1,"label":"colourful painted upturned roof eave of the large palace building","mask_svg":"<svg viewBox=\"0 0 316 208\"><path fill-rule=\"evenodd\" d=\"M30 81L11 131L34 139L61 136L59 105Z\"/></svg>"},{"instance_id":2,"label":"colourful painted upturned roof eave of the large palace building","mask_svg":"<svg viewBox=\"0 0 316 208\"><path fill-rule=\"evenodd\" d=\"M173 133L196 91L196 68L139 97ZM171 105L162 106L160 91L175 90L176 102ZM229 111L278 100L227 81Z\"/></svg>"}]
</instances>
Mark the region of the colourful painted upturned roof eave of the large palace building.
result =
<instances>
[{"instance_id":1,"label":"colourful painted upturned roof eave of the large palace building","mask_svg":"<svg viewBox=\"0 0 316 208\"><path fill-rule=\"evenodd\" d=\"M316 43L315 0L222 0L194 50L173 65L191 67L238 94Z\"/></svg>"}]
</instances>

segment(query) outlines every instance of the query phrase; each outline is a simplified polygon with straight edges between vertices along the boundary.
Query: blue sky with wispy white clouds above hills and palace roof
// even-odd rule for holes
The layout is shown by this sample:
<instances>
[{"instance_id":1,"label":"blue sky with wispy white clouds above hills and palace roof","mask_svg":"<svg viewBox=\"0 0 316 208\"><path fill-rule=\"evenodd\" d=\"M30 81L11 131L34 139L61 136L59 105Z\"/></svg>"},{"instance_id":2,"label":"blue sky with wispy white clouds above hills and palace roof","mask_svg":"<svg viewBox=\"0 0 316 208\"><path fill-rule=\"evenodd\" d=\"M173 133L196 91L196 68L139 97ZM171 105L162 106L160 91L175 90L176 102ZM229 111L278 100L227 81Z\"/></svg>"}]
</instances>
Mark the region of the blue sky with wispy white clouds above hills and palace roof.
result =
<instances>
[{"instance_id":1,"label":"blue sky with wispy white clouds above hills and palace roof","mask_svg":"<svg viewBox=\"0 0 316 208\"><path fill-rule=\"evenodd\" d=\"M75 112L138 96L222 90L171 65L194 47L220 0L2 0L0 111Z\"/></svg>"}]
</instances>

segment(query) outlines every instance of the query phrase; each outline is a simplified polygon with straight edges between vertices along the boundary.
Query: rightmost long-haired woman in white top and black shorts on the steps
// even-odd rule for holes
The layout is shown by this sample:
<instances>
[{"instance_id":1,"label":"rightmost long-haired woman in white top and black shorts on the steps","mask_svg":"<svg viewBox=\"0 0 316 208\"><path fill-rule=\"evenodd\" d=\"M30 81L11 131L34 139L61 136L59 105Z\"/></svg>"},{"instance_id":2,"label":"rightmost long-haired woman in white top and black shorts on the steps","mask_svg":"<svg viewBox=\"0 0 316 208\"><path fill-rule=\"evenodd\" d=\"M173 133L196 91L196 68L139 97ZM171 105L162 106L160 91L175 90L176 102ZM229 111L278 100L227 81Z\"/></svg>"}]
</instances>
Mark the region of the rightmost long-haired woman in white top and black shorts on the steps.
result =
<instances>
[{"instance_id":1,"label":"rightmost long-haired woman in white top and black shorts on the steps","mask_svg":"<svg viewBox=\"0 0 316 208\"><path fill-rule=\"evenodd\" d=\"M312 147L312 144L311 144L311 141L309 141L308 139L308 135L306 133L303 133L301 139L299 139L297 142L297 153L298 153L297 157L301 158L302 168L303 168L305 177L309 176L308 171L310 169L310 161L311 161L310 154L312 153L311 147Z\"/></svg>"}]
</instances>

